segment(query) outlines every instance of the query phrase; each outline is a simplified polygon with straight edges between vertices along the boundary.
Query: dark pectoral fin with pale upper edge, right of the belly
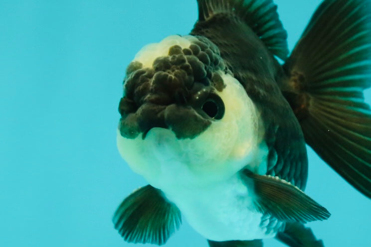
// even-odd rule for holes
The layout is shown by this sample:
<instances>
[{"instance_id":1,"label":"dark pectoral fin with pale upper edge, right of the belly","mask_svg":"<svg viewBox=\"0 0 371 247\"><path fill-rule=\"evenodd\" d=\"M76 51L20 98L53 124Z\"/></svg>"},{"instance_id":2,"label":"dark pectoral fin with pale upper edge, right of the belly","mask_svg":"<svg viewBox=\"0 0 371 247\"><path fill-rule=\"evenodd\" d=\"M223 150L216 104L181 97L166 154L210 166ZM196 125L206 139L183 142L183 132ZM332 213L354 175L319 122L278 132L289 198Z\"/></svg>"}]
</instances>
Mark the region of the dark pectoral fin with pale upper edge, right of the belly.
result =
<instances>
[{"instance_id":1,"label":"dark pectoral fin with pale upper edge, right of the belly","mask_svg":"<svg viewBox=\"0 0 371 247\"><path fill-rule=\"evenodd\" d=\"M243 174L253 180L255 206L261 213L272 215L280 221L300 223L330 217L329 211L283 179L257 175L248 170L244 170Z\"/></svg>"}]
</instances>

